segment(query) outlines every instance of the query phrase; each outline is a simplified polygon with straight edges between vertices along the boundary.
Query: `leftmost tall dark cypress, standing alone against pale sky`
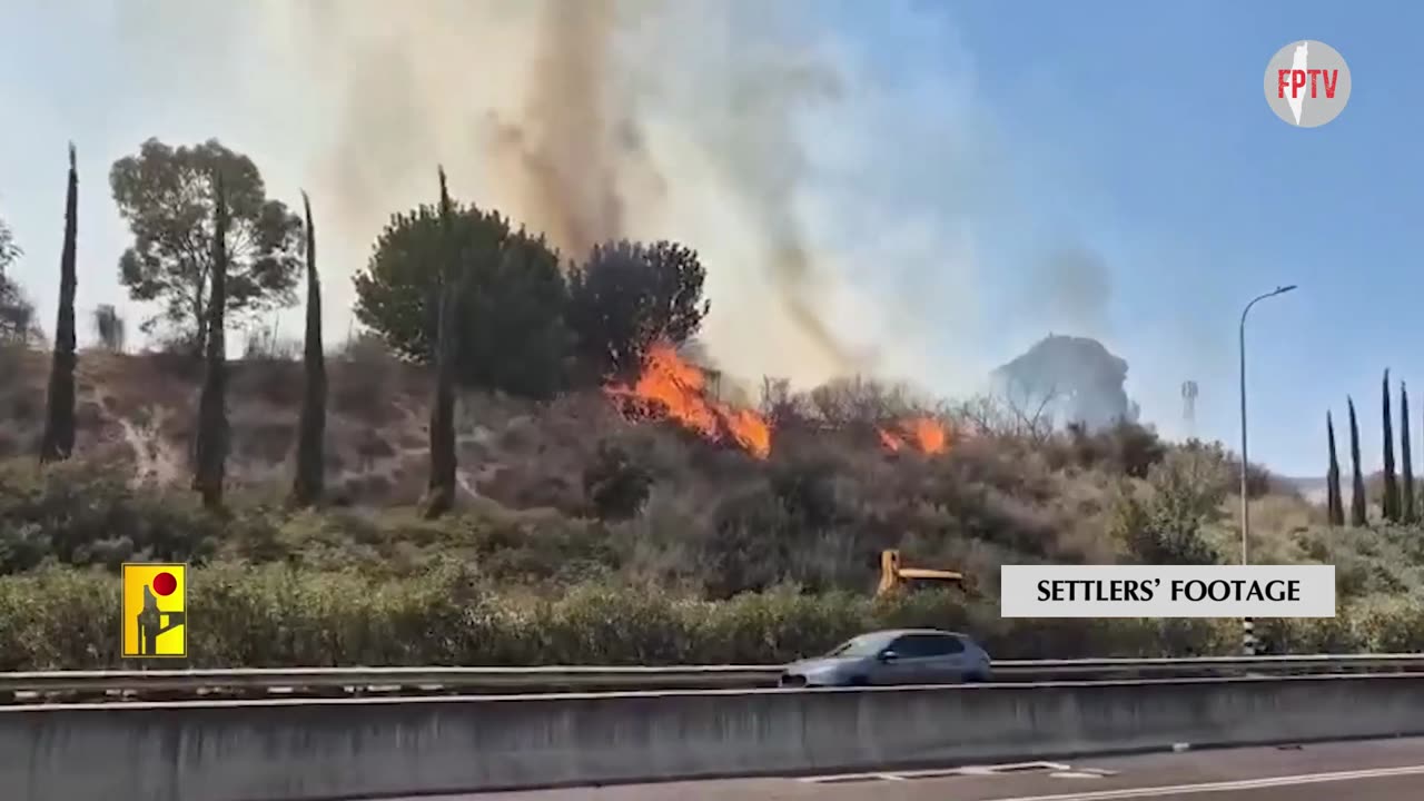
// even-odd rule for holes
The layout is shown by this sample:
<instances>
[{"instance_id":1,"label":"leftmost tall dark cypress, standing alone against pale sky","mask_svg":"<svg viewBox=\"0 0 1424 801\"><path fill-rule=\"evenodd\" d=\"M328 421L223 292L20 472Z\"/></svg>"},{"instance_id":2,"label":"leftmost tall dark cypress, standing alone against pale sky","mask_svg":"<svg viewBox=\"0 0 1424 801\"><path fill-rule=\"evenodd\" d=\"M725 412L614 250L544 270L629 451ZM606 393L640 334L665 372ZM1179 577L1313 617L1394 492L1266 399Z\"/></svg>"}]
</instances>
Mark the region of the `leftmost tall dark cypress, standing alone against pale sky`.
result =
<instances>
[{"instance_id":1,"label":"leftmost tall dark cypress, standing alone against pale sky","mask_svg":"<svg viewBox=\"0 0 1424 801\"><path fill-rule=\"evenodd\" d=\"M80 174L70 144L70 185L64 198L64 249L60 252L60 312L54 324L54 361L50 365L50 391L46 399L44 435L40 462L68 459L74 452L74 269L78 238Z\"/></svg>"}]
</instances>

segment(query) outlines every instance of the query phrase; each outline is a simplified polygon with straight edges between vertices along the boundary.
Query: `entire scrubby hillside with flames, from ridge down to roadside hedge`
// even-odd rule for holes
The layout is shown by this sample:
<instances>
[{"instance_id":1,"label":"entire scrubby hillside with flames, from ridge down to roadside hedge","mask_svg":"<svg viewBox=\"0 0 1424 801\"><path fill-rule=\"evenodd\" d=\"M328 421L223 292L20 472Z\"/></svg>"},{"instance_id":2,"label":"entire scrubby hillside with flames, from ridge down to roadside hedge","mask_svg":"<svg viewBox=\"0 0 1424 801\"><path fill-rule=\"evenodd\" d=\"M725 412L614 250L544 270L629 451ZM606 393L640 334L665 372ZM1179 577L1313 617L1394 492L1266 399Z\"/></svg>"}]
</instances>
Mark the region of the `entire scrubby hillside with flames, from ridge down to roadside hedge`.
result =
<instances>
[{"instance_id":1,"label":"entire scrubby hillside with flames, from ridge down to roadside hedge","mask_svg":"<svg viewBox=\"0 0 1424 801\"><path fill-rule=\"evenodd\" d=\"M127 559L199 567L194 666L762 661L884 624L967 627L1005 658L1219 653L1239 637L1233 621L997 616L1004 563L1235 559L1230 455L1135 423L1052 432L991 399L927 403L859 379L769 383L752 408L666 349L628 385L547 403L461 393L461 497L431 522L416 506L429 375L360 341L328 359L328 507L283 503L300 368L258 358L232 363L236 486L212 515L188 490L194 362L83 352L80 456L40 470L48 359L0 355L19 379L0 391L0 668L115 664L111 572ZM1252 482L1253 560L1336 564L1344 606L1320 626L1260 621L1265 636L1415 643L1415 530L1346 536L1283 486ZM887 547L968 583L873 601Z\"/></svg>"}]
</instances>

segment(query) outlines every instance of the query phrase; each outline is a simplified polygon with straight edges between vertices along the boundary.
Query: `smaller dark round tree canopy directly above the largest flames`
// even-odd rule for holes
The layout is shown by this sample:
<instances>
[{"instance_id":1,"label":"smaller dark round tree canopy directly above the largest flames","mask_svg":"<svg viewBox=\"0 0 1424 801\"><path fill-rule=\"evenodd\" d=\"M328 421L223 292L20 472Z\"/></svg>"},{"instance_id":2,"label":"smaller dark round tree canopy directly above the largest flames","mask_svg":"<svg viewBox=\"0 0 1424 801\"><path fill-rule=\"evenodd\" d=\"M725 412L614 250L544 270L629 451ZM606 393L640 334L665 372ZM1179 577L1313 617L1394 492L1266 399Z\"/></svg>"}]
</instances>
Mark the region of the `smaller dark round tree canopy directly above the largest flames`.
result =
<instances>
[{"instance_id":1,"label":"smaller dark round tree canopy directly above the largest flames","mask_svg":"<svg viewBox=\"0 0 1424 801\"><path fill-rule=\"evenodd\" d=\"M568 322L584 362L601 375L637 372L648 348L682 345L702 326L706 269L676 242L598 245L571 275Z\"/></svg>"}]
</instances>

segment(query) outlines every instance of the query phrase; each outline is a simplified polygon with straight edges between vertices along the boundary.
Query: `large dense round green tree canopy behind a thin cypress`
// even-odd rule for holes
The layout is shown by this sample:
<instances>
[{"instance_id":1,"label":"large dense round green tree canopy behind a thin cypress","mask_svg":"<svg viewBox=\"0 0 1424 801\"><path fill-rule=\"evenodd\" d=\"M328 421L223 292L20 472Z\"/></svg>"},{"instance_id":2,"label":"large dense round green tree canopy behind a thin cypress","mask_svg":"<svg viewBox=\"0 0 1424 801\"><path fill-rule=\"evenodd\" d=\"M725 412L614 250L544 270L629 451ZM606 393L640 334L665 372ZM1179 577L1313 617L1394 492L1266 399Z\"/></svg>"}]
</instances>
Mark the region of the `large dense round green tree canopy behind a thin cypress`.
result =
<instances>
[{"instance_id":1,"label":"large dense round green tree canopy behind a thin cypress","mask_svg":"<svg viewBox=\"0 0 1424 801\"><path fill-rule=\"evenodd\" d=\"M545 398L565 385L571 336L564 325L567 286L558 254L543 237L508 219L453 204L457 255L454 378L466 386ZM400 355L434 358L441 258L440 210L397 214L356 275L356 319Z\"/></svg>"}]
</instances>

